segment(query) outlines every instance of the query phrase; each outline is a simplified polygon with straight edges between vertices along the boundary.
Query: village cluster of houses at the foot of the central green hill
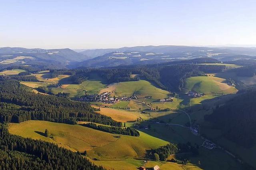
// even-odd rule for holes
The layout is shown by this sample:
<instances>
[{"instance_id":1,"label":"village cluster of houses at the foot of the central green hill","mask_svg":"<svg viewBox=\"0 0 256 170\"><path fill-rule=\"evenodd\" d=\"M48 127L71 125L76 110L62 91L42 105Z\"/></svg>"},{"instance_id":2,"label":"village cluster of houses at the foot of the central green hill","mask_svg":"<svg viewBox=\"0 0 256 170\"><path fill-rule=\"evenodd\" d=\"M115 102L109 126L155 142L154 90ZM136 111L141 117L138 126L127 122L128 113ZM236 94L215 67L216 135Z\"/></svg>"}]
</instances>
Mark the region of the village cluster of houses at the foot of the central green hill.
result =
<instances>
[{"instance_id":1,"label":"village cluster of houses at the foot of the central green hill","mask_svg":"<svg viewBox=\"0 0 256 170\"><path fill-rule=\"evenodd\" d=\"M104 92L102 94L94 94L94 95L85 95L80 97L78 100L86 101L86 102L103 102L108 104L115 104L116 102L123 100L123 101L130 101L132 99L137 99L136 96L119 96L119 97L112 97L112 92Z\"/></svg>"}]
</instances>

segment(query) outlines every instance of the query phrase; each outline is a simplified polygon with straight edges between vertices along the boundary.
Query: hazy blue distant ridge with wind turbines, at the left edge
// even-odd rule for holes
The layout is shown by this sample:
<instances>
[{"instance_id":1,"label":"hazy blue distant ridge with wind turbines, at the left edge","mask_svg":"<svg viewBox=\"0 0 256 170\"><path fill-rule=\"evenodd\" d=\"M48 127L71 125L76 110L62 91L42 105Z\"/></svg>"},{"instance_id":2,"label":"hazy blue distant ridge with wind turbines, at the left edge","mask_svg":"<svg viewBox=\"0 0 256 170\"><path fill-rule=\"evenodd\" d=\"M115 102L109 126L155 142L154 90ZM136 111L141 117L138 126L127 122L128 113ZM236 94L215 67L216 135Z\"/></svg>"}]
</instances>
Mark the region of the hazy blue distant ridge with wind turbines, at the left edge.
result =
<instances>
[{"instance_id":1,"label":"hazy blue distant ridge with wind turbines, at the left edge","mask_svg":"<svg viewBox=\"0 0 256 170\"><path fill-rule=\"evenodd\" d=\"M0 67L7 65L54 64L60 68L90 59L71 49L26 49L20 47L0 48Z\"/></svg>"}]
</instances>

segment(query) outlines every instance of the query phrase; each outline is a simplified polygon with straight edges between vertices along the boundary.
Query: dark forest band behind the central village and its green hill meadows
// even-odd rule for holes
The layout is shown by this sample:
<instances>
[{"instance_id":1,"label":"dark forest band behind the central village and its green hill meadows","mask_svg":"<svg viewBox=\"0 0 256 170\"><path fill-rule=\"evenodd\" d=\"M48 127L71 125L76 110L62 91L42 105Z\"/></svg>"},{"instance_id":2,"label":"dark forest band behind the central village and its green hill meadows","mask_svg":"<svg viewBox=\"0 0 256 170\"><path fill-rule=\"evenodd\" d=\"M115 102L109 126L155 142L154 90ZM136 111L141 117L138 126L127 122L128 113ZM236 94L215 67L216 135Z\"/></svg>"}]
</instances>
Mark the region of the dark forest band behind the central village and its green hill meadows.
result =
<instances>
[{"instance_id":1,"label":"dark forest band behind the central village and its green hill meadows","mask_svg":"<svg viewBox=\"0 0 256 170\"><path fill-rule=\"evenodd\" d=\"M99 74L108 84L113 82L138 81L144 78L167 90L180 90L184 80L191 76L204 76L205 72L221 72L224 65L200 64L148 64L135 66L120 66L117 68L77 69L72 77L74 83L80 84L90 78L90 73ZM132 74L138 74L132 78Z\"/></svg>"}]
</instances>

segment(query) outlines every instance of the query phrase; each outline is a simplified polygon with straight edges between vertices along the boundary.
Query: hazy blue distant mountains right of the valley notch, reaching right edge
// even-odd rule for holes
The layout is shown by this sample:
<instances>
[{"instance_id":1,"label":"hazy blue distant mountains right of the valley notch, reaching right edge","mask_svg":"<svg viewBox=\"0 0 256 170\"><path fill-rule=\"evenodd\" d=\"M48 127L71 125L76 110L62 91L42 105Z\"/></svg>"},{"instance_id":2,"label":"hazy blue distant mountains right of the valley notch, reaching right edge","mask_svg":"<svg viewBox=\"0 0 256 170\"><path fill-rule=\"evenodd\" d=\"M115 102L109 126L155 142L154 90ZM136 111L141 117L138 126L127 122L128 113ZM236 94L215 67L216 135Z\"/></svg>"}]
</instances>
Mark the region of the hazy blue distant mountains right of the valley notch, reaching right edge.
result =
<instances>
[{"instance_id":1,"label":"hazy blue distant mountains right of the valley notch, reaching right edge","mask_svg":"<svg viewBox=\"0 0 256 170\"><path fill-rule=\"evenodd\" d=\"M132 64L166 63L187 59L209 57L220 61L234 61L240 59L255 59L256 49L244 47L191 47L176 45L136 46L119 49L94 49L81 53L95 57L82 61L77 66L105 67ZM105 54L104 54L105 53ZM97 55L100 55L96 57Z\"/></svg>"}]
</instances>

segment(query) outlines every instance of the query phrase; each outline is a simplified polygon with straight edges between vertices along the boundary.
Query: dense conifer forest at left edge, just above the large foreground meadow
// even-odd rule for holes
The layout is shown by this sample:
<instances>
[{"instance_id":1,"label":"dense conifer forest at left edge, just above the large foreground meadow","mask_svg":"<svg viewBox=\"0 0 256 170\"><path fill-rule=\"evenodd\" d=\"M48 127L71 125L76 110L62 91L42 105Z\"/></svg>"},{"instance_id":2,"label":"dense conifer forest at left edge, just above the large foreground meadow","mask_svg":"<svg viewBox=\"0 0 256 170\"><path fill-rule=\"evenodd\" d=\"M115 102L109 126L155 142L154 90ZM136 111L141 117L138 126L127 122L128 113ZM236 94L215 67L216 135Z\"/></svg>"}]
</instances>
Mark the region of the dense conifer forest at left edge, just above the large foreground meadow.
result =
<instances>
[{"instance_id":1,"label":"dense conifer forest at left edge, just above the large foreground meadow","mask_svg":"<svg viewBox=\"0 0 256 170\"><path fill-rule=\"evenodd\" d=\"M94 108L88 103L35 94L19 82L10 80L0 83L0 108L0 122L46 120L75 124L76 121L91 121L122 126L122 123L94 112Z\"/></svg>"}]
</instances>

